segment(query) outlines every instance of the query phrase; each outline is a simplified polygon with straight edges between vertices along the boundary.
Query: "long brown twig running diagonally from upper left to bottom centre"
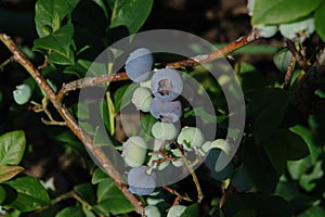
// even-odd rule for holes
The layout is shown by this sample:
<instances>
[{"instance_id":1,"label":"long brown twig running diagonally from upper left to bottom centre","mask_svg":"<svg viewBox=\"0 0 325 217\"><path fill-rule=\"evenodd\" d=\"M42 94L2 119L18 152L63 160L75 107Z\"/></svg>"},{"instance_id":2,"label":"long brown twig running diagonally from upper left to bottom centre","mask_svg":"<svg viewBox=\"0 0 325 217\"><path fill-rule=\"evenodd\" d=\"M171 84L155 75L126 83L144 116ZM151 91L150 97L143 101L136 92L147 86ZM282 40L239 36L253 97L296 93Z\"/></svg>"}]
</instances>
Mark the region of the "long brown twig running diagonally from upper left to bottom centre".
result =
<instances>
[{"instance_id":1,"label":"long brown twig running diagonally from upper left to bottom centre","mask_svg":"<svg viewBox=\"0 0 325 217\"><path fill-rule=\"evenodd\" d=\"M68 110L57 100L56 94L46 81L46 79L40 75L39 71L32 65L32 63L21 52L15 42L5 34L0 33L0 40L4 46L13 53L14 60L20 63L35 79L37 85L47 93L49 100L53 103L54 107L58 114L63 117L67 127L78 137L80 141L83 142L84 146L93 156L101 163L104 170L113 179L116 186L121 190L125 196L134 206L135 212L141 214L144 204L141 200L134 196L123 183L121 175L115 169L113 163L107 158L107 156L102 152L100 146L95 146L92 142L90 136L78 125L74 116L68 112Z\"/></svg>"}]
</instances>

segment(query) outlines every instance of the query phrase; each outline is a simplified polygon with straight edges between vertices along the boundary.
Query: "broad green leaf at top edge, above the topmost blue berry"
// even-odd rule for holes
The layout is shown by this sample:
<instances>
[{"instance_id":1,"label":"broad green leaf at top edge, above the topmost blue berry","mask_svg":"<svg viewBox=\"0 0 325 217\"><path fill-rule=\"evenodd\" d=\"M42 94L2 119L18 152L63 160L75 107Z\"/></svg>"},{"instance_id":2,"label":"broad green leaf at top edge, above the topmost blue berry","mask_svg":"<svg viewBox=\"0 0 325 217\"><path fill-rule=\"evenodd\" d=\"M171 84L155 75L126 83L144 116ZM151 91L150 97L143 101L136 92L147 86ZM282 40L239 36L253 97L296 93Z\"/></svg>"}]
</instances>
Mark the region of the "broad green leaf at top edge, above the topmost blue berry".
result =
<instances>
[{"instance_id":1,"label":"broad green leaf at top edge, above the topmost blue berry","mask_svg":"<svg viewBox=\"0 0 325 217\"><path fill-rule=\"evenodd\" d=\"M153 8L153 0L115 0L113 5L109 28L126 26L129 34L135 34L144 24Z\"/></svg>"}]
</instances>

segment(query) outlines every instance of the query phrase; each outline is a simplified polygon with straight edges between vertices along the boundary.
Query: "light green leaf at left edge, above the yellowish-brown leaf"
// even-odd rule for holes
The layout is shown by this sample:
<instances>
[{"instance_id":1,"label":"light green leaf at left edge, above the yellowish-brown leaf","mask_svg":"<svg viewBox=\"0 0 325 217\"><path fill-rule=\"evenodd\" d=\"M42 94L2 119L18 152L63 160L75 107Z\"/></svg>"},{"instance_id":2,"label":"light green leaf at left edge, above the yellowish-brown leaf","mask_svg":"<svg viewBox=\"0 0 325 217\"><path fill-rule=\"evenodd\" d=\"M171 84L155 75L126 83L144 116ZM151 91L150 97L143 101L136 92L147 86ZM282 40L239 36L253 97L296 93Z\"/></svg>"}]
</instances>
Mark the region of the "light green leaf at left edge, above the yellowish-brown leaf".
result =
<instances>
[{"instance_id":1,"label":"light green leaf at left edge, above the yellowish-brown leaf","mask_svg":"<svg viewBox=\"0 0 325 217\"><path fill-rule=\"evenodd\" d=\"M18 165L26 146L25 132L17 130L0 137L0 165Z\"/></svg>"}]
</instances>

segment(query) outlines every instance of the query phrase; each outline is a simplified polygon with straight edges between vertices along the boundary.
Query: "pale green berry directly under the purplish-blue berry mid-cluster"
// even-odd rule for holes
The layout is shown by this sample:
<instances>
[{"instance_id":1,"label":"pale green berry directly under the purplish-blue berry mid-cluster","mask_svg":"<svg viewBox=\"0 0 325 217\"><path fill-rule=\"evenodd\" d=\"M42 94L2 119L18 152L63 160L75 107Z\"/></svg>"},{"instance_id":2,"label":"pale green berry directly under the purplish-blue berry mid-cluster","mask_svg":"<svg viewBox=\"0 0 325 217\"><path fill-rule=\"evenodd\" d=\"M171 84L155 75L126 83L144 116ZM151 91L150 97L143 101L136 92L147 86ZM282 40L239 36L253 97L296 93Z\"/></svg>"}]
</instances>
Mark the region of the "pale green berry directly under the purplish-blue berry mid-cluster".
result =
<instances>
[{"instance_id":1,"label":"pale green berry directly under the purplish-blue berry mid-cluster","mask_svg":"<svg viewBox=\"0 0 325 217\"><path fill-rule=\"evenodd\" d=\"M156 122L153 125L152 133L156 139L172 140L178 133L178 129L172 123Z\"/></svg>"}]
</instances>

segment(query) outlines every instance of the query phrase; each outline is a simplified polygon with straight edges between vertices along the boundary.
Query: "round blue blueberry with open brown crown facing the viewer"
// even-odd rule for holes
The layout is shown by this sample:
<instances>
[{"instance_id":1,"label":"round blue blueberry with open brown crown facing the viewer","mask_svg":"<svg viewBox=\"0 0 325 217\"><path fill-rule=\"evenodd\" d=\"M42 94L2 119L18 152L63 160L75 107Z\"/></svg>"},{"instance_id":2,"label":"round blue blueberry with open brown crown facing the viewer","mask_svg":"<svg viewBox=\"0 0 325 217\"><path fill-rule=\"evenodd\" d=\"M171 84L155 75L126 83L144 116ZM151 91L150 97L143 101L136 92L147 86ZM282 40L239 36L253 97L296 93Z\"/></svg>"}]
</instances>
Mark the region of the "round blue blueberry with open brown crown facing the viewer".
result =
<instances>
[{"instance_id":1,"label":"round blue blueberry with open brown crown facing the viewer","mask_svg":"<svg viewBox=\"0 0 325 217\"><path fill-rule=\"evenodd\" d=\"M182 90L183 79L176 69L162 68L152 77L152 92L159 100L170 102L178 98Z\"/></svg>"}]
</instances>

